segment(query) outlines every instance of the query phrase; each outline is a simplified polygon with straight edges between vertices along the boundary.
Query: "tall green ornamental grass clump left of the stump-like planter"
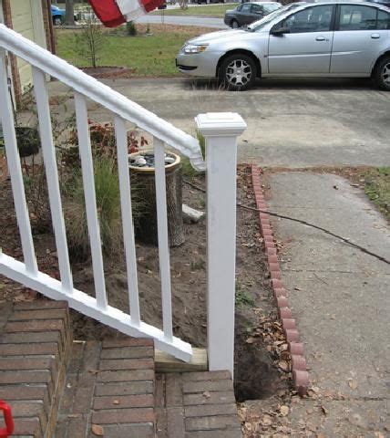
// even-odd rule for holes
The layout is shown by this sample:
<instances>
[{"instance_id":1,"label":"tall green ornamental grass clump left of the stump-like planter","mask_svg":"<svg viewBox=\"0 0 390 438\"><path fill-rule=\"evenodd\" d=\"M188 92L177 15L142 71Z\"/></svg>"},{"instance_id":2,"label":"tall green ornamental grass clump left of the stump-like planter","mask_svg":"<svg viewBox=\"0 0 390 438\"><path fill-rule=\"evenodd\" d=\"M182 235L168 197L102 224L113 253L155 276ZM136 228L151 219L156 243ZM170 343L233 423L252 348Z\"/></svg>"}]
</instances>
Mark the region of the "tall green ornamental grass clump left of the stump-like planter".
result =
<instances>
[{"instance_id":1,"label":"tall green ornamental grass clump left of the stump-like planter","mask_svg":"<svg viewBox=\"0 0 390 438\"><path fill-rule=\"evenodd\" d=\"M118 181L118 157L112 123L97 124L89 121L91 149L94 162L94 180L97 219L100 228L102 251L115 256L123 252L123 236ZM69 252L76 260L85 260L90 255L87 213L81 162L77 145L77 132L71 135L72 146L62 151L61 162L66 169L67 184L64 213L67 226ZM138 132L128 132L128 153L138 151L148 144ZM134 221L142 214L144 201L137 183L131 183L131 205Z\"/></svg>"}]
</instances>

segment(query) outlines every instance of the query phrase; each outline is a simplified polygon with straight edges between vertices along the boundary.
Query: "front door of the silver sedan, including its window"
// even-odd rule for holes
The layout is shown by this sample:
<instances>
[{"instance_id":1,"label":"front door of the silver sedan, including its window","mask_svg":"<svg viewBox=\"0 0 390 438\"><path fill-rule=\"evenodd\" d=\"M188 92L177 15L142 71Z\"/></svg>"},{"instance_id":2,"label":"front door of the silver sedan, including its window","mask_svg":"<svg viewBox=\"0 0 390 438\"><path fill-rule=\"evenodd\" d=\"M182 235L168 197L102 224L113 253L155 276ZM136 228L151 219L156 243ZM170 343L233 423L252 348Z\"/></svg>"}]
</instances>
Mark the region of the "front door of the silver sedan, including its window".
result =
<instances>
[{"instance_id":1,"label":"front door of the silver sedan, including its window","mask_svg":"<svg viewBox=\"0 0 390 438\"><path fill-rule=\"evenodd\" d=\"M269 36L269 73L326 74L334 38L334 5L313 5L287 16ZM272 32L284 30L280 35Z\"/></svg>"}]
</instances>

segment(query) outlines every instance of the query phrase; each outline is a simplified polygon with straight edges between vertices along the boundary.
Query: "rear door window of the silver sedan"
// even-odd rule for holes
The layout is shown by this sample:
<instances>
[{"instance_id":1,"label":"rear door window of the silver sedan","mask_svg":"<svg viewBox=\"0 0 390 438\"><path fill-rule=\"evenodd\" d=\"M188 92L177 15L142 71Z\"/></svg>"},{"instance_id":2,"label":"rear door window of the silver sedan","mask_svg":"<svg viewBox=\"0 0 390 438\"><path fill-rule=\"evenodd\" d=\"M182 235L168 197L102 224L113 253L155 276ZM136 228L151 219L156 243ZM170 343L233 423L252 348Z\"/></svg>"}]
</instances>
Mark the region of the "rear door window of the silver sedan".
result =
<instances>
[{"instance_id":1,"label":"rear door window of the silver sedan","mask_svg":"<svg viewBox=\"0 0 390 438\"><path fill-rule=\"evenodd\" d=\"M339 30L376 29L375 7L364 5L341 5Z\"/></svg>"}]
</instances>

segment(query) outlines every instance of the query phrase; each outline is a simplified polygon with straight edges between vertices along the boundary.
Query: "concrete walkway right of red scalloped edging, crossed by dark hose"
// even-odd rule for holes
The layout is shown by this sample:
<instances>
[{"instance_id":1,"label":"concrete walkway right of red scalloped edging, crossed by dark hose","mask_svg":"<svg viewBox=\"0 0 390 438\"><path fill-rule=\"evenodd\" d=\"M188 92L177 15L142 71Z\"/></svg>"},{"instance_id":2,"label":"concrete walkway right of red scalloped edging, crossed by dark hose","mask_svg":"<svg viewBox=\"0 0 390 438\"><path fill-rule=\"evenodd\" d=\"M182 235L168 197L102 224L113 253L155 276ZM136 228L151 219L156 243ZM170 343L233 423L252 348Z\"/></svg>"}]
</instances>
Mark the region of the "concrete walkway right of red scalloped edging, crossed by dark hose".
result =
<instances>
[{"instance_id":1,"label":"concrete walkway right of red scalloped edging, crossed by dark hose","mask_svg":"<svg viewBox=\"0 0 390 438\"><path fill-rule=\"evenodd\" d=\"M270 211L323 226L390 259L385 219L344 178L281 172L269 183ZM314 388L310 399L292 404L294 436L303 425L313 436L389 436L390 266L303 224L272 224L284 244L282 280Z\"/></svg>"}]
</instances>

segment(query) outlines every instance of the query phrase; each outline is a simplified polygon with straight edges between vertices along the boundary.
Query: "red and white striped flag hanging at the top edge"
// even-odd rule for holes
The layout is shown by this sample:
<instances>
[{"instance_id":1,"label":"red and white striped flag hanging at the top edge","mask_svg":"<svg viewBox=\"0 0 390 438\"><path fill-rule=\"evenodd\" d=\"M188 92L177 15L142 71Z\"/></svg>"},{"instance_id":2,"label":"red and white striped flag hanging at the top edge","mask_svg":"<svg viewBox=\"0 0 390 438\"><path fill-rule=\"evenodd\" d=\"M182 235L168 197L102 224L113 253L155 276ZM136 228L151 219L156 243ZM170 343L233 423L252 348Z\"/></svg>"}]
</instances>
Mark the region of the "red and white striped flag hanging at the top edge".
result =
<instances>
[{"instance_id":1,"label":"red and white striped flag hanging at the top edge","mask_svg":"<svg viewBox=\"0 0 390 438\"><path fill-rule=\"evenodd\" d=\"M115 27L147 14L164 0L89 0L98 19L107 27Z\"/></svg>"}]
</instances>

